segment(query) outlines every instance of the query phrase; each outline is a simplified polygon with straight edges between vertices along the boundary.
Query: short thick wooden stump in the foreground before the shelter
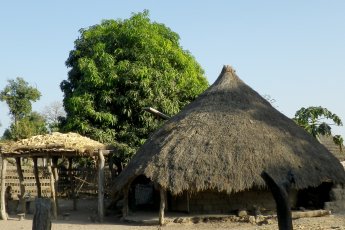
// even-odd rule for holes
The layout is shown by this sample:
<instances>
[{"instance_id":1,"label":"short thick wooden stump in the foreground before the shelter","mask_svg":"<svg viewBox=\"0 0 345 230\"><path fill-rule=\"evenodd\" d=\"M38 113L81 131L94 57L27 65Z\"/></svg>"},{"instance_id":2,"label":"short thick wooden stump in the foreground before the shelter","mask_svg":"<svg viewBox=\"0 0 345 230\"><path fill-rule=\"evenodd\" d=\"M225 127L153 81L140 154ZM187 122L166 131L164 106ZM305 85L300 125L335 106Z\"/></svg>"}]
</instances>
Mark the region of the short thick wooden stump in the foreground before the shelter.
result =
<instances>
[{"instance_id":1,"label":"short thick wooden stump in the foreground before the shelter","mask_svg":"<svg viewBox=\"0 0 345 230\"><path fill-rule=\"evenodd\" d=\"M51 230L50 205L49 199L36 198L32 230Z\"/></svg>"}]
</instances>

